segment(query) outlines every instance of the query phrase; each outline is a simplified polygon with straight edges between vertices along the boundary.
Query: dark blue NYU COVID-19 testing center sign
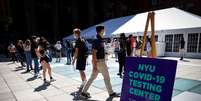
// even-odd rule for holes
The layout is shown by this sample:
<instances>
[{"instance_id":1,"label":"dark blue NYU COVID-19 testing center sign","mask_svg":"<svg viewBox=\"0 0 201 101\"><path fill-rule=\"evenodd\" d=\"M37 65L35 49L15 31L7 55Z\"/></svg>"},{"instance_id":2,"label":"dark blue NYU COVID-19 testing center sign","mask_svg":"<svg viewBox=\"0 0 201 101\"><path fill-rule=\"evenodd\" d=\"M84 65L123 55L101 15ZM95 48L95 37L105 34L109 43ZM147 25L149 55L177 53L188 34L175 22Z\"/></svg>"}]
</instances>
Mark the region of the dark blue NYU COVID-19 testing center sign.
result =
<instances>
[{"instance_id":1,"label":"dark blue NYU COVID-19 testing center sign","mask_svg":"<svg viewBox=\"0 0 201 101\"><path fill-rule=\"evenodd\" d=\"M121 101L171 101L177 61L126 57Z\"/></svg>"}]
</instances>

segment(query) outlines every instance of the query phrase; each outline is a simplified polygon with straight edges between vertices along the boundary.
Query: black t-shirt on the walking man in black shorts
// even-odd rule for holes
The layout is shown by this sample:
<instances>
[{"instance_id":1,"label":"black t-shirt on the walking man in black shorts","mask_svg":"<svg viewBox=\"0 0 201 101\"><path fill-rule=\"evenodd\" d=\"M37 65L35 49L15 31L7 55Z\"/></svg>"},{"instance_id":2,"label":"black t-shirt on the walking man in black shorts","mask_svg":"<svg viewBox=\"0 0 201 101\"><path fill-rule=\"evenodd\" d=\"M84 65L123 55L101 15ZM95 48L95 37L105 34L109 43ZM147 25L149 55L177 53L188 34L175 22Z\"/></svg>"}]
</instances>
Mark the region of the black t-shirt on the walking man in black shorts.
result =
<instances>
[{"instance_id":1,"label":"black t-shirt on the walking man in black shorts","mask_svg":"<svg viewBox=\"0 0 201 101\"><path fill-rule=\"evenodd\" d=\"M86 56L83 54L84 44L81 38L78 38L75 42L75 48L78 48L77 59L85 59Z\"/></svg>"}]
</instances>

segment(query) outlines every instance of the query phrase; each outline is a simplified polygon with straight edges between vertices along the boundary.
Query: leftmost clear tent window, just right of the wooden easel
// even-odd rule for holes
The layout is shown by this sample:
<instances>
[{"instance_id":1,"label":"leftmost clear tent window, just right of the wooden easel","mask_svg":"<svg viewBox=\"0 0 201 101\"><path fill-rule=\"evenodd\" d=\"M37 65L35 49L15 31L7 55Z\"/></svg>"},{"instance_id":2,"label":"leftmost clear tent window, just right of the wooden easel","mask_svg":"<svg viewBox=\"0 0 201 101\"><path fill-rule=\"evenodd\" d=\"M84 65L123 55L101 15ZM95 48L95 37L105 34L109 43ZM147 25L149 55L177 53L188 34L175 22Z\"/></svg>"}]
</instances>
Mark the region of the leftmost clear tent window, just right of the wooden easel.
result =
<instances>
[{"instance_id":1,"label":"leftmost clear tent window, just right of the wooden easel","mask_svg":"<svg viewBox=\"0 0 201 101\"><path fill-rule=\"evenodd\" d=\"M165 35L165 51L166 52L172 52L172 41L173 41L173 35Z\"/></svg>"}]
</instances>

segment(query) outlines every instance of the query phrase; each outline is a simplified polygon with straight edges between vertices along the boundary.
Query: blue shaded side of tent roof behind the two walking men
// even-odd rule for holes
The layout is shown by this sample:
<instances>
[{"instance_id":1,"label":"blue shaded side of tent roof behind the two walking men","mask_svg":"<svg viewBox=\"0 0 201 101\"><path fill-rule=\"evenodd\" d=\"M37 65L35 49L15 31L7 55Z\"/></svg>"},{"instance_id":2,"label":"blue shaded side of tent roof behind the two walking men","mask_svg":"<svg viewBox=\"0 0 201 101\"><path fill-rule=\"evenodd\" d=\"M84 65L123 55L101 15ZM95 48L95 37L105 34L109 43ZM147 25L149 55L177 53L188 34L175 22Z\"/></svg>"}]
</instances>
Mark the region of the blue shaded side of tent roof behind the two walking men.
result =
<instances>
[{"instance_id":1,"label":"blue shaded side of tent roof behind the two walking men","mask_svg":"<svg viewBox=\"0 0 201 101\"><path fill-rule=\"evenodd\" d=\"M120 18L115 18L111 20L107 20L103 23L97 24L97 25L104 25L105 26L105 37L108 38L111 36L111 34L118 29L121 25L129 21L132 16L125 16L125 17L120 17ZM93 39L96 37L96 26L91 26L81 32L81 36L84 37L85 39ZM68 37L65 37L64 40L70 40L73 39L73 35L70 35Z\"/></svg>"}]
</instances>

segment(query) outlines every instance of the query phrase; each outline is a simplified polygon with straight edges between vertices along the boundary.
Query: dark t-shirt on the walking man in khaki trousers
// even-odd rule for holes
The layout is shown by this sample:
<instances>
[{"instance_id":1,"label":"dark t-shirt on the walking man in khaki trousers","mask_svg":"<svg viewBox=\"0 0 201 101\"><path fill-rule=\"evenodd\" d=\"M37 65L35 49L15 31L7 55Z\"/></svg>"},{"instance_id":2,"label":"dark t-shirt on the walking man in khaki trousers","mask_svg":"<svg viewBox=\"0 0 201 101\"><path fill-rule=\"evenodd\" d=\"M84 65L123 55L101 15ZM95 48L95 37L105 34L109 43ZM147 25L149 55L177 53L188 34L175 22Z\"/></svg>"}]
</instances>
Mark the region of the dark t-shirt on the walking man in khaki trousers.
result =
<instances>
[{"instance_id":1,"label":"dark t-shirt on the walking man in khaki trousers","mask_svg":"<svg viewBox=\"0 0 201 101\"><path fill-rule=\"evenodd\" d=\"M94 40L92 49L97 50L96 58L105 59L104 39L97 35L97 39Z\"/></svg>"}]
</instances>

